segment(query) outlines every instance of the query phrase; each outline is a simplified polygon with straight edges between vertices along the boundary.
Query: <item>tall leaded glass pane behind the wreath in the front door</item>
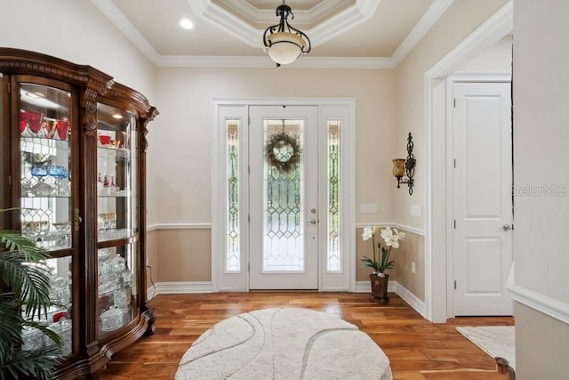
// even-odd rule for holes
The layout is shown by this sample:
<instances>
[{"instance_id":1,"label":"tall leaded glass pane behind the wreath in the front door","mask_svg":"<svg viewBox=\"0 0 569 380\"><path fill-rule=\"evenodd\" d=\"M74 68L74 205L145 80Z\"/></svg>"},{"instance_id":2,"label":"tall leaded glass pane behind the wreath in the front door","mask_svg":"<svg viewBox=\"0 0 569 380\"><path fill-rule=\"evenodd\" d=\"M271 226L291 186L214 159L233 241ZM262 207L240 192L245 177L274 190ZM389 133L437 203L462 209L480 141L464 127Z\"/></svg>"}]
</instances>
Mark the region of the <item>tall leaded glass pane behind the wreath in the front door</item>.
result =
<instances>
[{"instance_id":1,"label":"tall leaded glass pane behind the wreath in the front door","mask_svg":"<svg viewBox=\"0 0 569 380\"><path fill-rule=\"evenodd\" d=\"M305 271L304 120L263 121L263 271Z\"/></svg>"}]
</instances>

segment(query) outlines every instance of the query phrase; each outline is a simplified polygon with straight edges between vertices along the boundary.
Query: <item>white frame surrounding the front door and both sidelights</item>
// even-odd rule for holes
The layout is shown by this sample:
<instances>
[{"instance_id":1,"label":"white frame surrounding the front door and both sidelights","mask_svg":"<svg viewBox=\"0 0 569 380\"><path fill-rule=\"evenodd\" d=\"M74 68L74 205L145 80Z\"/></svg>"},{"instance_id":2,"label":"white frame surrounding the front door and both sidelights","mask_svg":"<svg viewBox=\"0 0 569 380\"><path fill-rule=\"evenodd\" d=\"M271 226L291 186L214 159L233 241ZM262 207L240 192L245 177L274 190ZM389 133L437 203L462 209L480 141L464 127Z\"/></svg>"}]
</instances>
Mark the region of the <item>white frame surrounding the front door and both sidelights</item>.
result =
<instances>
[{"instance_id":1,"label":"white frame surrounding the front door and both sidelights","mask_svg":"<svg viewBox=\"0 0 569 380\"><path fill-rule=\"evenodd\" d=\"M241 271L228 273L224 270L225 204L227 191L225 186L225 161L220 159L226 150L224 133L220 131L220 118L236 117L242 125L248 124L249 106L318 106L319 123L328 118L341 118L341 205L342 236L341 249L344 254L343 267L339 272L325 270L320 257L318 265L319 291L356 290L356 101L353 98L268 98L268 99L212 99L211 147L212 147L212 292L249 291L249 273L242 265ZM220 109L229 109L220 115ZM234 115L235 114L235 115ZM338 115L338 116L336 116ZM244 242L248 245L248 242ZM246 246L248 247L248 246ZM242 263L248 263L248 257L242 257Z\"/></svg>"}]
</instances>

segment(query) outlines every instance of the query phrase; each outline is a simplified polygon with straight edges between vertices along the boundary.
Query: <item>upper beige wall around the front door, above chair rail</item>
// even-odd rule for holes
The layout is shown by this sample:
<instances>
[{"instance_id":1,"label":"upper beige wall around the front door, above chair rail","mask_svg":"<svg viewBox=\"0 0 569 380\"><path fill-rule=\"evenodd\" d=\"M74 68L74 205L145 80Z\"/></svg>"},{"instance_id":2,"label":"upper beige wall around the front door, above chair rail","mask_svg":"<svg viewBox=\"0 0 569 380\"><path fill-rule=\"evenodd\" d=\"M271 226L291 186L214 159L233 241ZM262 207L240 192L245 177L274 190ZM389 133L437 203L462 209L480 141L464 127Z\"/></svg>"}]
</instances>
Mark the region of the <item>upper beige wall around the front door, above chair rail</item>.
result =
<instances>
[{"instance_id":1,"label":"upper beige wall around the front door, above chair rail","mask_svg":"<svg viewBox=\"0 0 569 380\"><path fill-rule=\"evenodd\" d=\"M378 214L358 214L357 222L392 217L393 70L160 68L156 86L158 223L211 222L213 98L355 98L357 205L380 205Z\"/></svg>"}]
</instances>

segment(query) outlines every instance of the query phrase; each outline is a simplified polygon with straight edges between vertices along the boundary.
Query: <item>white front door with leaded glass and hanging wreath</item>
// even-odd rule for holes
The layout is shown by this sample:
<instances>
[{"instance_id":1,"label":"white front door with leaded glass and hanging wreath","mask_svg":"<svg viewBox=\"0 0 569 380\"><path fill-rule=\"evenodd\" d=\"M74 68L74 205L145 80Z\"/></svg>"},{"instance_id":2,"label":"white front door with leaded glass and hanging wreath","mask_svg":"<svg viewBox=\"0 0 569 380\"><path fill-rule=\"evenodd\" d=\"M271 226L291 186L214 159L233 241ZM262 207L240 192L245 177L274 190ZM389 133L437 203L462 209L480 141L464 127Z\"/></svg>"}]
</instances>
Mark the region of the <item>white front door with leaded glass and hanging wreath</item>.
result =
<instances>
[{"instance_id":1,"label":"white front door with leaded glass and hanging wreath","mask_svg":"<svg viewBox=\"0 0 569 380\"><path fill-rule=\"evenodd\" d=\"M249 112L249 288L317 289L318 109Z\"/></svg>"}]
</instances>

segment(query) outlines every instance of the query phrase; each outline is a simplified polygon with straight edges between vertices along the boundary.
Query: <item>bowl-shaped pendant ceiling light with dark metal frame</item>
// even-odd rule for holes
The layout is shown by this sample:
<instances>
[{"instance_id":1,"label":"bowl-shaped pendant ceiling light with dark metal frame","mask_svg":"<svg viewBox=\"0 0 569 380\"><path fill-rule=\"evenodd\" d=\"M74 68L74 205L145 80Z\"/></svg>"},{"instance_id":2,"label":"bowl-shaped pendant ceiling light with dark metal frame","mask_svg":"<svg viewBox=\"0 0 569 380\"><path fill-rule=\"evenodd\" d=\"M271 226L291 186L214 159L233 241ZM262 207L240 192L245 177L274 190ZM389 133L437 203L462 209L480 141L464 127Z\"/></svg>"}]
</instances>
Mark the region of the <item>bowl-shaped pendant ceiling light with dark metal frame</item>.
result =
<instances>
[{"instance_id":1,"label":"bowl-shaped pendant ceiling light with dark metal frame","mask_svg":"<svg viewBox=\"0 0 569 380\"><path fill-rule=\"evenodd\" d=\"M293 10L284 4L276 7L276 17L281 20L278 24L268 27L263 33L263 44L268 57L275 61L276 67L296 61L301 53L310 52L309 36L288 23L288 16L294 19Z\"/></svg>"}]
</instances>

